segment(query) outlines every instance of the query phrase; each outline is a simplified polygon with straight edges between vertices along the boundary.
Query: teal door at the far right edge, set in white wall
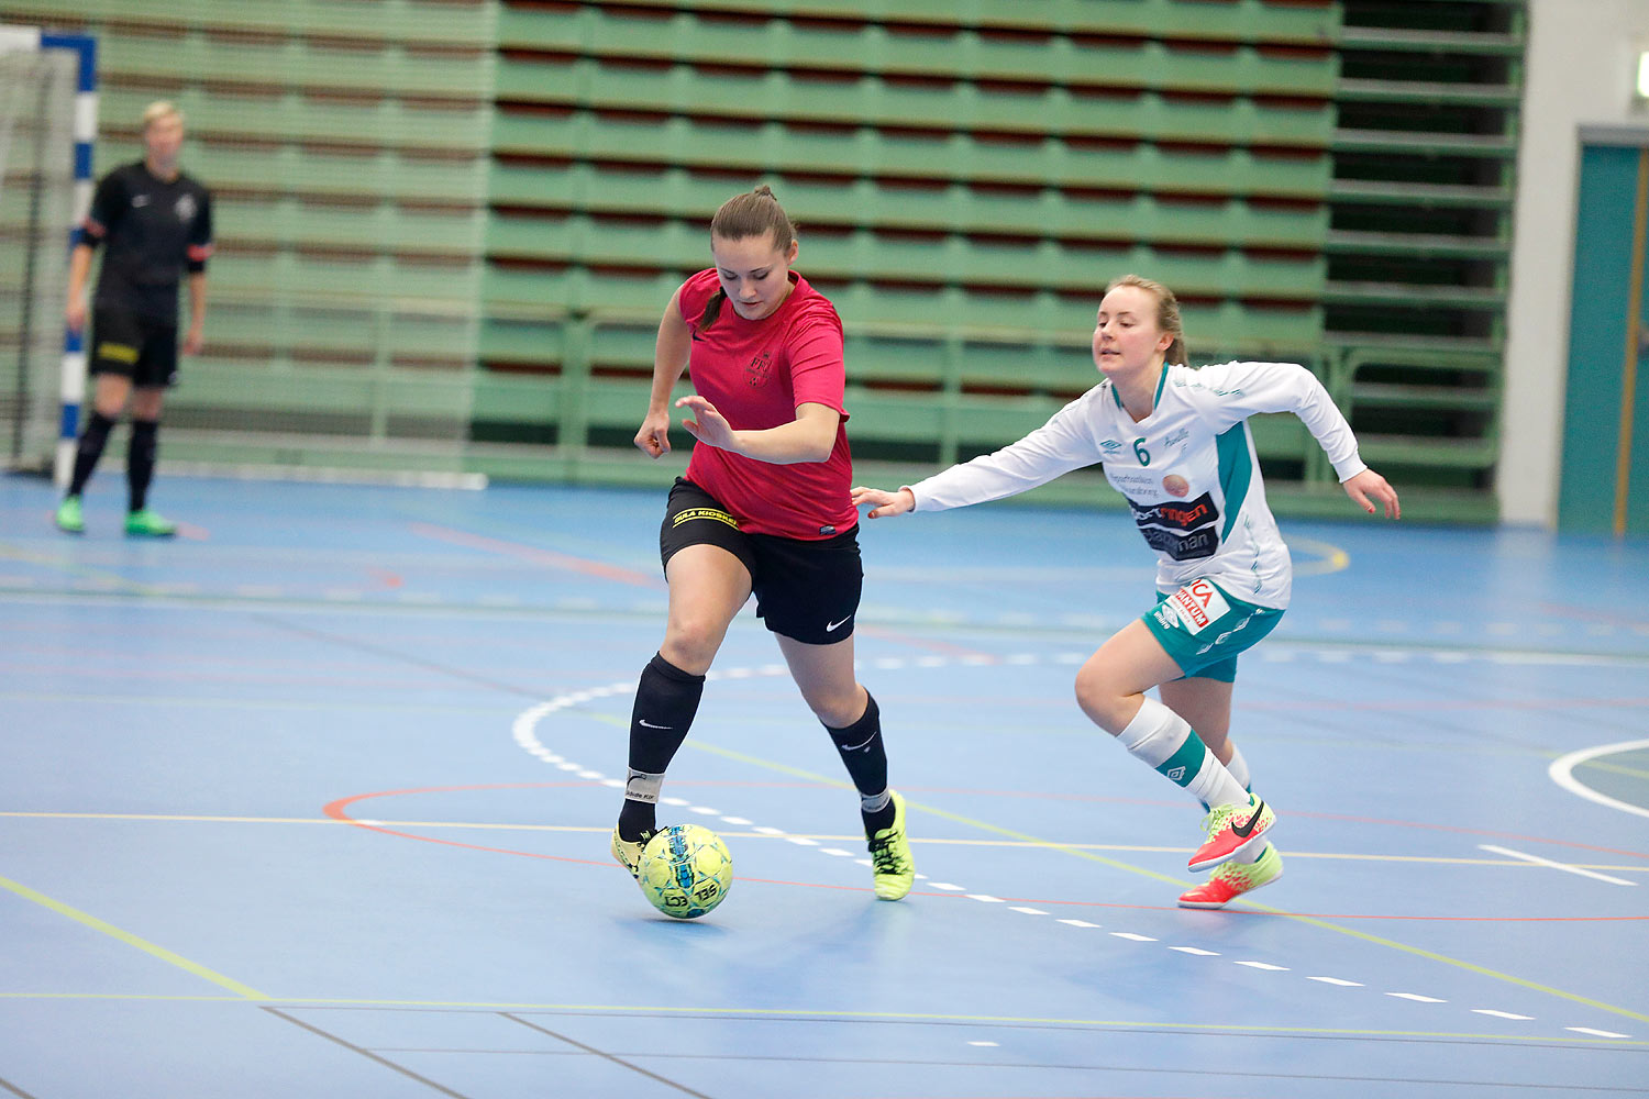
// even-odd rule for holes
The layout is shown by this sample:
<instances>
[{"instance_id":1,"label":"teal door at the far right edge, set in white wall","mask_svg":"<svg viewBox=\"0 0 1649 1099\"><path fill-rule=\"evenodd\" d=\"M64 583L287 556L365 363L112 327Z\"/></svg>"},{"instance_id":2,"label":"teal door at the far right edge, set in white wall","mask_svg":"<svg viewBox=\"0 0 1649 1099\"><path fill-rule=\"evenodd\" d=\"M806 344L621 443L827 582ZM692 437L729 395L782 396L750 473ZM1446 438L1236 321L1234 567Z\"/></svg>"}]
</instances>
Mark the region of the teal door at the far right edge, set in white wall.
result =
<instances>
[{"instance_id":1,"label":"teal door at the far right edge, set in white wall","mask_svg":"<svg viewBox=\"0 0 1649 1099\"><path fill-rule=\"evenodd\" d=\"M1585 137L1585 135L1583 135ZM1649 132L1585 143L1558 527L1649 534Z\"/></svg>"}]
</instances>

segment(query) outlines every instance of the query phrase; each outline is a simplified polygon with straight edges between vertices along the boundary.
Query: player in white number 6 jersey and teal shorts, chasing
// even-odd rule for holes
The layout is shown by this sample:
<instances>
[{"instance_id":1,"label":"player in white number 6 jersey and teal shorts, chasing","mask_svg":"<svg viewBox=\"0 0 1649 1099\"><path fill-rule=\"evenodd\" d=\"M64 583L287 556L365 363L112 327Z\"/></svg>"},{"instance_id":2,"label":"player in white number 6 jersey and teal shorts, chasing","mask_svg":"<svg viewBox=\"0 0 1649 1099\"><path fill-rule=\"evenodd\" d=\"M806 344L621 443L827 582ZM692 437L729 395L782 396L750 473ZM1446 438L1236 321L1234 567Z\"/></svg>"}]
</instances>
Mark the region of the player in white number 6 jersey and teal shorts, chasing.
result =
<instances>
[{"instance_id":1,"label":"player in white number 6 jersey and teal shorts, chasing","mask_svg":"<svg viewBox=\"0 0 1649 1099\"><path fill-rule=\"evenodd\" d=\"M897 493L854 488L871 519L1001 499L1102 463L1158 554L1158 605L1111 636L1077 672L1077 704L1100 728L1207 807L1207 840L1186 908L1222 908L1275 882L1281 855L1271 807L1248 793L1230 743L1237 654L1288 606L1288 547L1265 503L1247 419L1293 412L1327 453L1346 494L1397 519L1397 493L1357 456L1357 440L1322 384L1290 362L1191 369L1179 303L1167 287L1125 275L1106 287L1093 328L1105 381L993 455ZM1146 697L1158 687L1161 702Z\"/></svg>"}]
</instances>

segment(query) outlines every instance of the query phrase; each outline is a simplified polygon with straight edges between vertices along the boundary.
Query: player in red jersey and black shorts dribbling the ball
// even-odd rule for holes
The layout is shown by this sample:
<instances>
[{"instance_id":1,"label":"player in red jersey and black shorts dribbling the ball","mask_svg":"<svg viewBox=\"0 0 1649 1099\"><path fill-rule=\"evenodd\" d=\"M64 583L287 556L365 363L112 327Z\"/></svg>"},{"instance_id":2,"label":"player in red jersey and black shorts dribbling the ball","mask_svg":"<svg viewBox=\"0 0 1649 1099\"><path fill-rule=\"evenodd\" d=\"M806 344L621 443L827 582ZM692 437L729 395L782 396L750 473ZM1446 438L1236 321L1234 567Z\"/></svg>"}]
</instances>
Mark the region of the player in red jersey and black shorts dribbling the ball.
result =
<instances>
[{"instance_id":1,"label":"player in red jersey and black shorts dribbling the ball","mask_svg":"<svg viewBox=\"0 0 1649 1099\"><path fill-rule=\"evenodd\" d=\"M864 572L849 496L841 318L790 270L796 236L772 189L737 194L711 219L714 267L665 306L653 395L635 445L669 450L669 394L698 440L660 531L669 582L665 643L641 671L630 715L625 801L613 855L630 873L656 830L671 756L688 737L727 626L754 593L790 674L859 791L876 895L910 891L904 799L887 786L876 699L853 674Z\"/></svg>"}]
</instances>

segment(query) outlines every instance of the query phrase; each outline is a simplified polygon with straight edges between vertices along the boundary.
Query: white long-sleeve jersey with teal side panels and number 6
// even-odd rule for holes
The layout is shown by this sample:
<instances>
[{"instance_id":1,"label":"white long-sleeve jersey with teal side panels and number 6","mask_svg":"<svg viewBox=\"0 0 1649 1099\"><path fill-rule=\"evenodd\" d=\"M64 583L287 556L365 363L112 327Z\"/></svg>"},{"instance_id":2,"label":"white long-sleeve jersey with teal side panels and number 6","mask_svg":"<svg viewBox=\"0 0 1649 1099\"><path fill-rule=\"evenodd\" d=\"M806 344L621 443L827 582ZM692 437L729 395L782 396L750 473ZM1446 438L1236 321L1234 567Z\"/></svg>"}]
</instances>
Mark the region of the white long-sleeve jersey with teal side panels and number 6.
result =
<instances>
[{"instance_id":1,"label":"white long-sleeve jersey with teal side panels and number 6","mask_svg":"<svg viewBox=\"0 0 1649 1099\"><path fill-rule=\"evenodd\" d=\"M907 486L917 511L981 504L1102 463L1158 554L1158 590L1207 577L1248 603L1288 606L1293 568L1265 503L1248 417L1293 412L1341 481L1367 466L1322 382L1293 362L1167 366L1135 420L1106 379L1017 443Z\"/></svg>"}]
</instances>

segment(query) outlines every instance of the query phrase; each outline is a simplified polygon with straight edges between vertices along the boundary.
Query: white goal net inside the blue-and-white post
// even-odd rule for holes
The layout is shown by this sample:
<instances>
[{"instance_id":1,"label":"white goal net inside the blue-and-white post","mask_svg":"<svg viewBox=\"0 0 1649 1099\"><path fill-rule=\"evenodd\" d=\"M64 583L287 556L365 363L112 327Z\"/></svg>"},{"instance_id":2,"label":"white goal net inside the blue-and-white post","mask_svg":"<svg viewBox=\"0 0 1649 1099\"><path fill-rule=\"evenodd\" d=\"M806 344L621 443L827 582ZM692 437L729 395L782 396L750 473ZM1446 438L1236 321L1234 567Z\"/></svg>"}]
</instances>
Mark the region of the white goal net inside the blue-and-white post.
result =
<instances>
[{"instance_id":1,"label":"white goal net inside the blue-and-white post","mask_svg":"<svg viewBox=\"0 0 1649 1099\"><path fill-rule=\"evenodd\" d=\"M0 28L7 30L7 28ZM0 35L0 465L49 470L63 419L78 56Z\"/></svg>"}]
</instances>

